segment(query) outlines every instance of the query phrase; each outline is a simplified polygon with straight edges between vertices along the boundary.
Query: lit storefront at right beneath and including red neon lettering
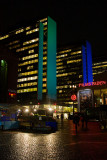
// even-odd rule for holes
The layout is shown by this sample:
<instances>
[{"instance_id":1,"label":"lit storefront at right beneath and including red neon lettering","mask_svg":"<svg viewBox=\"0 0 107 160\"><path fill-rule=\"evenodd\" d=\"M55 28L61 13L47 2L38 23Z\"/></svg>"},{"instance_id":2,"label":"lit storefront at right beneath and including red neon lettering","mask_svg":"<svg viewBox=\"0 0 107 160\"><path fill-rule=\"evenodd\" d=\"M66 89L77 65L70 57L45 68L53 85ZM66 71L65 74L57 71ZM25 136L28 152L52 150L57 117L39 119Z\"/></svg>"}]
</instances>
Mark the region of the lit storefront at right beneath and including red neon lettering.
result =
<instances>
[{"instance_id":1,"label":"lit storefront at right beneath and including red neon lettering","mask_svg":"<svg viewBox=\"0 0 107 160\"><path fill-rule=\"evenodd\" d=\"M77 92L78 111L107 105L107 81L80 83Z\"/></svg>"}]
</instances>

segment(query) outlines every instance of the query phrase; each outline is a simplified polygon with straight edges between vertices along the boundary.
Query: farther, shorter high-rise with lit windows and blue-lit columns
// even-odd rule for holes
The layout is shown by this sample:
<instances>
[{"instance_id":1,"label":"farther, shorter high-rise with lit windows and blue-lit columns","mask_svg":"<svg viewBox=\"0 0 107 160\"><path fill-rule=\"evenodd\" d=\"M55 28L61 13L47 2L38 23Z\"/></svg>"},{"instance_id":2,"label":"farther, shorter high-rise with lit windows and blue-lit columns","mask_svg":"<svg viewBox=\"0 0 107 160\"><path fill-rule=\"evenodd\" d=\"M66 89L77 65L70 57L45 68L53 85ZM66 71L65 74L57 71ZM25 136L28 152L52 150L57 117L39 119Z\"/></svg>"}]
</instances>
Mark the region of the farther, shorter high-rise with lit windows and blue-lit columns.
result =
<instances>
[{"instance_id":1,"label":"farther, shorter high-rise with lit windows and blue-lit columns","mask_svg":"<svg viewBox=\"0 0 107 160\"><path fill-rule=\"evenodd\" d=\"M77 94L78 84L88 82L93 82L90 43L86 41L84 44L59 48L57 53L58 102L70 106L74 103L71 96Z\"/></svg>"}]
</instances>

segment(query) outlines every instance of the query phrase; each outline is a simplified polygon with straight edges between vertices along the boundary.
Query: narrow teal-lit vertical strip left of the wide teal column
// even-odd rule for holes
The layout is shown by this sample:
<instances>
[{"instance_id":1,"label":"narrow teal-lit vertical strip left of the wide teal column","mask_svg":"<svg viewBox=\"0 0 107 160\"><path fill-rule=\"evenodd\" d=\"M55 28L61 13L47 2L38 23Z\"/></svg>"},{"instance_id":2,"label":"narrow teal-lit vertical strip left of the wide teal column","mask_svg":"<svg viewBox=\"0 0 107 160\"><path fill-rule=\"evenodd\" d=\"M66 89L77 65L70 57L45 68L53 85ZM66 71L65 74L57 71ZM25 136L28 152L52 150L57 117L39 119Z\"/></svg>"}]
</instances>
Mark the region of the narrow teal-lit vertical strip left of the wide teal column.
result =
<instances>
[{"instance_id":1,"label":"narrow teal-lit vertical strip left of the wide teal column","mask_svg":"<svg viewBox=\"0 0 107 160\"><path fill-rule=\"evenodd\" d=\"M44 26L40 22L39 26L39 57L38 57L38 100L42 100L43 86L43 29Z\"/></svg>"}]
</instances>

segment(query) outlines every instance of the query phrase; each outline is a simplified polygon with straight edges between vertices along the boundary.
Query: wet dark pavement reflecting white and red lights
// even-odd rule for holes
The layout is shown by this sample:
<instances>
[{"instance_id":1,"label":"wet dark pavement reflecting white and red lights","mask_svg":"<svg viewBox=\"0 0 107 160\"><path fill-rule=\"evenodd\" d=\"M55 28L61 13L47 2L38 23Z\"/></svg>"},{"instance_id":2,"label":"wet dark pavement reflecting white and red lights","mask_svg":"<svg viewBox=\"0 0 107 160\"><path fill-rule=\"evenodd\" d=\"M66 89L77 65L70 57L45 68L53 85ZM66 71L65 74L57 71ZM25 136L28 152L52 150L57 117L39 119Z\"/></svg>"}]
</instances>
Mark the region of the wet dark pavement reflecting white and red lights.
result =
<instances>
[{"instance_id":1,"label":"wet dark pavement reflecting white and red lights","mask_svg":"<svg viewBox=\"0 0 107 160\"><path fill-rule=\"evenodd\" d=\"M81 126L77 135L72 120L50 134L0 131L0 160L107 160L107 131L98 122Z\"/></svg>"}]
</instances>

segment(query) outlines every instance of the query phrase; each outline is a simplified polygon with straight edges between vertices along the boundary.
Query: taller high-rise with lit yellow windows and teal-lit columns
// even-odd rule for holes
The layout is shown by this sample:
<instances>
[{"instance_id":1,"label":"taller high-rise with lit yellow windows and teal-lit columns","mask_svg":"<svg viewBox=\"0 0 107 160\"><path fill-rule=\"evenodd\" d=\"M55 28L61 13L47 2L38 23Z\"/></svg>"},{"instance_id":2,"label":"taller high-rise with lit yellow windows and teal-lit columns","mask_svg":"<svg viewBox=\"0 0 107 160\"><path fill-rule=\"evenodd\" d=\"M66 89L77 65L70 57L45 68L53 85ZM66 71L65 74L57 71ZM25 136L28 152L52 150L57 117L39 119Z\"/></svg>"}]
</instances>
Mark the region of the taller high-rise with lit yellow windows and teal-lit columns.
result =
<instances>
[{"instance_id":1,"label":"taller high-rise with lit yellow windows and teal-lit columns","mask_svg":"<svg viewBox=\"0 0 107 160\"><path fill-rule=\"evenodd\" d=\"M50 17L39 20L1 36L0 42L19 58L18 101L56 101L56 22Z\"/></svg>"}]
</instances>

